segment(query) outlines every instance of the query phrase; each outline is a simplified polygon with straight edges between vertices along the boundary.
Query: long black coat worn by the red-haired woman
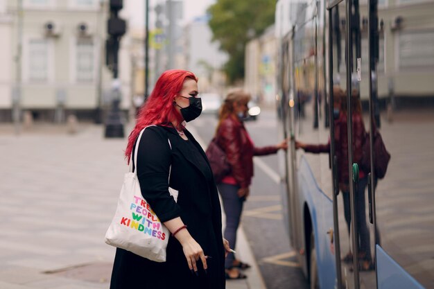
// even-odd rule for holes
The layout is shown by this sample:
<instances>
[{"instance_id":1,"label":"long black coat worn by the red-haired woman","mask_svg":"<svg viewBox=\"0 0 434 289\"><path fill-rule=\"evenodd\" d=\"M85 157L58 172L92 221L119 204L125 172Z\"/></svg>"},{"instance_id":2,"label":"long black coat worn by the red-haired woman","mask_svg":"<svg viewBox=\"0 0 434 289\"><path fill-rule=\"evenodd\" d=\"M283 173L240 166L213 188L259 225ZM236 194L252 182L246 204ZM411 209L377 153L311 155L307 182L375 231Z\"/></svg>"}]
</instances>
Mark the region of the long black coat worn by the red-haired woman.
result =
<instances>
[{"instance_id":1,"label":"long black coat worn by the red-haired woman","mask_svg":"<svg viewBox=\"0 0 434 289\"><path fill-rule=\"evenodd\" d=\"M206 164L211 172L205 152L190 132L184 132L191 143L184 141L174 128L146 128L139 144L137 176L142 195L159 219L166 222L181 217L205 255L211 256L207 259L207 273L198 261L199 277L192 274L182 246L170 236L165 263L116 249L111 289L225 288L225 251L216 184L212 173L208 174L207 169L204 171L204 167L196 161L191 145L204 157L202 165ZM179 191L177 203L168 193L170 166L170 186Z\"/></svg>"}]
</instances>

